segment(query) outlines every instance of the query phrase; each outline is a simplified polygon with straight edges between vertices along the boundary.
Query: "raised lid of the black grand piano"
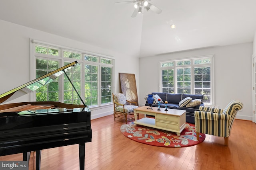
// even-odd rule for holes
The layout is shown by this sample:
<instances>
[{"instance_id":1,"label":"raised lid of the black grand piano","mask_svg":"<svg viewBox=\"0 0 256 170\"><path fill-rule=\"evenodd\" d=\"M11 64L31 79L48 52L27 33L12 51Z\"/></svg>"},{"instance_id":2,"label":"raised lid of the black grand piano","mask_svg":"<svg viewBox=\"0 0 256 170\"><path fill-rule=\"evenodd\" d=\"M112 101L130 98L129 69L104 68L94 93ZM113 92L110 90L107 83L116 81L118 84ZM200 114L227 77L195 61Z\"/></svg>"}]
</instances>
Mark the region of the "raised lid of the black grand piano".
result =
<instances>
[{"instance_id":1,"label":"raised lid of the black grand piano","mask_svg":"<svg viewBox=\"0 0 256 170\"><path fill-rule=\"evenodd\" d=\"M58 68L57 70L54 70L48 74L45 74L44 76L36 78L30 82L27 82L26 84L16 87L8 92L5 92L4 94L1 94L0 95L0 104L14 100L20 96L28 94L40 87L52 82L55 78L57 78L64 72L66 73L66 71L69 70L70 68L76 66L76 64L77 64L77 61L74 61L73 63L67 64L66 66Z\"/></svg>"}]
</instances>

